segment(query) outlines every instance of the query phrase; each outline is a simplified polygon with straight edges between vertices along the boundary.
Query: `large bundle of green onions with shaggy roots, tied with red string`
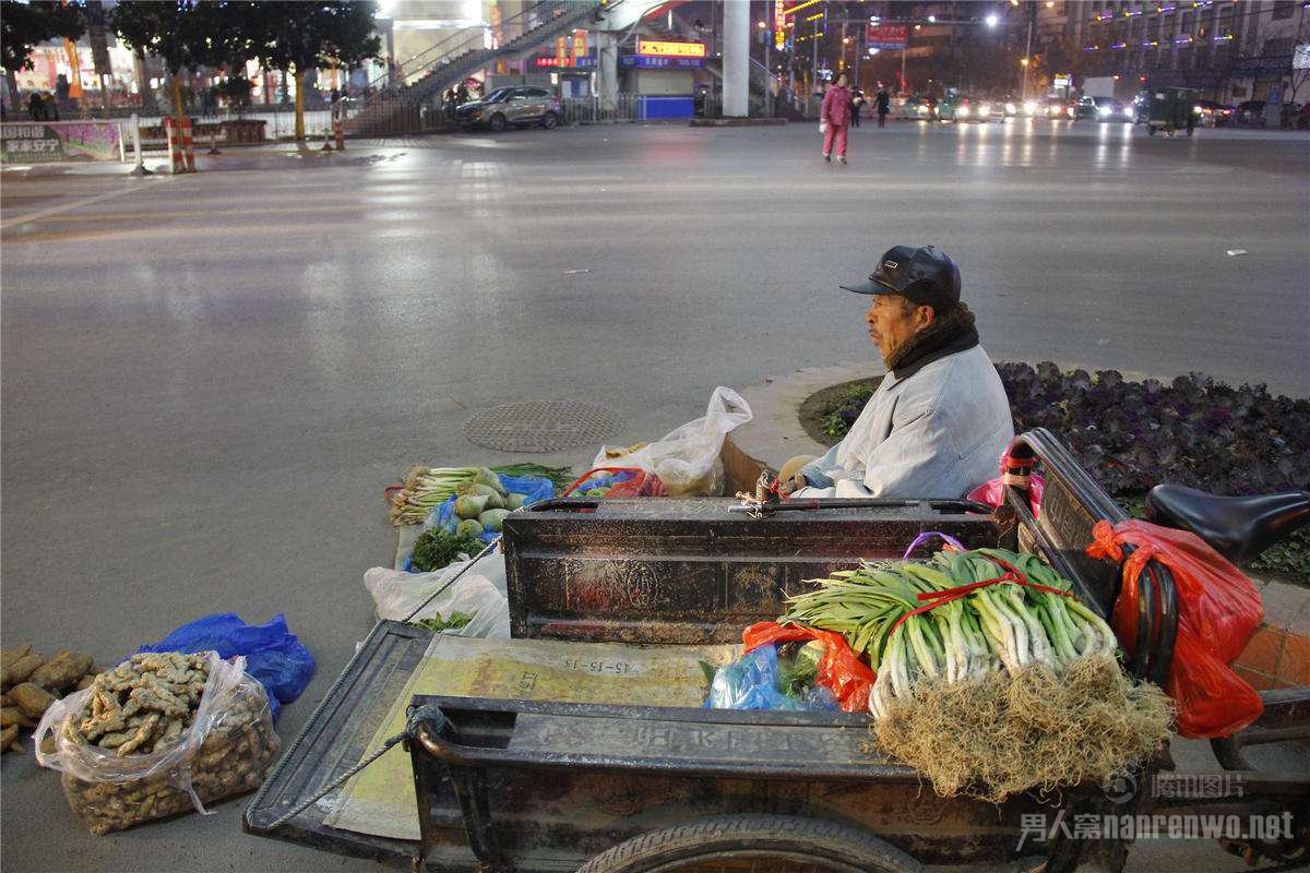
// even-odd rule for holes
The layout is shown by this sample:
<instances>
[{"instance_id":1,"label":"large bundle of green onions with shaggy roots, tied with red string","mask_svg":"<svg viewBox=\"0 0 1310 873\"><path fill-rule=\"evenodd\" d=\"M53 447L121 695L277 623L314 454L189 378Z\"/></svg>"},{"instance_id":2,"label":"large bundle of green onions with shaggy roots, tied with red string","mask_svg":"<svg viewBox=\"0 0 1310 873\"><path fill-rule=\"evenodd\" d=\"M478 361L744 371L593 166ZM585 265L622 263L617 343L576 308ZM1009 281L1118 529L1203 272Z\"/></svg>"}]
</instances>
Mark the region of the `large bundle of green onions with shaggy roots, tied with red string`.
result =
<instances>
[{"instance_id":1,"label":"large bundle of green onions with shaggy roots, tied with red string","mask_svg":"<svg viewBox=\"0 0 1310 873\"><path fill-rule=\"evenodd\" d=\"M943 551L814 581L778 622L869 656L878 750L945 797L1104 783L1170 736L1169 698L1124 674L1110 626L1034 555Z\"/></svg>"}]
</instances>

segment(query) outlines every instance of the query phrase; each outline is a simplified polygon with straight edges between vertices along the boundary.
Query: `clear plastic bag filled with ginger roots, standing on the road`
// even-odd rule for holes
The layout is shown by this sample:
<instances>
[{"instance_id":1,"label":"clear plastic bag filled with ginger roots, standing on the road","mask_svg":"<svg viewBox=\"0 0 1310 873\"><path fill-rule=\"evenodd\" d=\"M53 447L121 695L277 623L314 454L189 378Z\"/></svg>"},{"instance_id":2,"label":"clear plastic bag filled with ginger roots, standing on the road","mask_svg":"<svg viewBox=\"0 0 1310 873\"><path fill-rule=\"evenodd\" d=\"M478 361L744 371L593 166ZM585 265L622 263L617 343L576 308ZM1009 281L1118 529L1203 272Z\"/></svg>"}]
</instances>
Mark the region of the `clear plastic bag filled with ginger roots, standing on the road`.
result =
<instances>
[{"instance_id":1,"label":"clear plastic bag filled with ginger roots, standing on the road","mask_svg":"<svg viewBox=\"0 0 1310 873\"><path fill-rule=\"evenodd\" d=\"M56 700L37 726L37 763L63 774L73 813L97 835L258 788L278 755L269 695L245 673L245 658L208 652L210 677L191 725L162 751L119 757L73 737L73 720L93 694ZM134 656L134 657L149 657ZM54 751L43 739L54 736Z\"/></svg>"}]
</instances>

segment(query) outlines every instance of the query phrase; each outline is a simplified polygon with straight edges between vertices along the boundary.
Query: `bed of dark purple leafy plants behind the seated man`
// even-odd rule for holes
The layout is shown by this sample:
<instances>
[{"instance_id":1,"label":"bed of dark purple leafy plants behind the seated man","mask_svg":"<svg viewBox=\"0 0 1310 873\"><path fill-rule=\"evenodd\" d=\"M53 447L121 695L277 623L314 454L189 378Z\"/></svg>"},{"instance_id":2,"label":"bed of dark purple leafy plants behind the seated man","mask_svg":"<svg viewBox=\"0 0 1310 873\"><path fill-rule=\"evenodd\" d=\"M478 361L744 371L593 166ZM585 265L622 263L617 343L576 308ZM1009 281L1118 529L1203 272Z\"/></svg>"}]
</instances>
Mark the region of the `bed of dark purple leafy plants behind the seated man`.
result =
<instances>
[{"instance_id":1,"label":"bed of dark purple leafy plants behind the seated man","mask_svg":"<svg viewBox=\"0 0 1310 873\"><path fill-rule=\"evenodd\" d=\"M1231 387L1192 373L1172 382L1128 381L1117 370L1061 372L1045 361L997 364L1015 432L1048 428L1133 514L1146 492L1172 482L1225 495L1296 491L1310 483L1310 399ZM850 429L878 380L820 391L802 408L814 438ZM1310 529L1262 554L1254 569L1310 585Z\"/></svg>"}]
</instances>

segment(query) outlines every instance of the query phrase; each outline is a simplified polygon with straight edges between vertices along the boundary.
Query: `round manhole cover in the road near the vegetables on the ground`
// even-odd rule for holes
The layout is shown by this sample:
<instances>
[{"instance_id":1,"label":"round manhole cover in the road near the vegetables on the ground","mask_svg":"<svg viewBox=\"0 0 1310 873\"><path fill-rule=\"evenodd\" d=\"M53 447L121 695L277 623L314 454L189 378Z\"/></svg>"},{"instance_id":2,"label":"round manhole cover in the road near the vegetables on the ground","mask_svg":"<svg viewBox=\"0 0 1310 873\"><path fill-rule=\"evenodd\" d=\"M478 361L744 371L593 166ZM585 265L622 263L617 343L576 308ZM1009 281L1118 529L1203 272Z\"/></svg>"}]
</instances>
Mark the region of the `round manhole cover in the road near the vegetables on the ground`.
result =
<instances>
[{"instance_id":1,"label":"round manhole cover in the road near the vegetables on the ground","mask_svg":"<svg viewBox=\"0 0 1310 873\"><path fill-rule=\"evenodd\" d=\"M599 445L621 424L617 412L592 403L506 403L482 410L465 421L464 435L489 449L554 452L574 445Z\"/></svg>"}]
</instances>

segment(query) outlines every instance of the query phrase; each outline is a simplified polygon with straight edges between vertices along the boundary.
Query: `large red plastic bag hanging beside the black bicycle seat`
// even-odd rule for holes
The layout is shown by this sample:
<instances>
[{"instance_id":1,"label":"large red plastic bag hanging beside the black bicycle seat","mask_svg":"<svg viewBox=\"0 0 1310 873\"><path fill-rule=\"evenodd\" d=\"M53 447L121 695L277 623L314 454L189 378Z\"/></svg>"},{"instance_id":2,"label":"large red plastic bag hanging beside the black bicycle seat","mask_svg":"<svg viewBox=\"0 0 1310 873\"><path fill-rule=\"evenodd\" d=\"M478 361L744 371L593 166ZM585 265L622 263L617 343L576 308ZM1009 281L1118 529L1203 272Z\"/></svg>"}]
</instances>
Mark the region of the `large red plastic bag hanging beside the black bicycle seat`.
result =
<instances>
[{"instance_id":1,"label":"large red plastic bag hanging beside the black bicycle seat","mask_svg":"<svg viewBox=\"0 0 1310 873\"><path fill-rule=\"evenodd\" d=\"M1127 561L1123 543L1137 547ZM1098 521L1087 554L1124 564L1111 624L1129 653L1137 640L1138 575L1151 558L1172 573L1178 640L1165 691L1178 703L1178 733L1229 737L1260 717L1260 695L1229 668L1264 620L1260 593L1242 571L1193 533L1136 518L1114 529Z\"/></svg>"}]
</instances>

